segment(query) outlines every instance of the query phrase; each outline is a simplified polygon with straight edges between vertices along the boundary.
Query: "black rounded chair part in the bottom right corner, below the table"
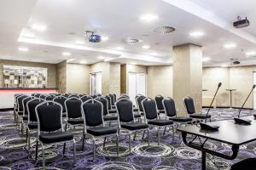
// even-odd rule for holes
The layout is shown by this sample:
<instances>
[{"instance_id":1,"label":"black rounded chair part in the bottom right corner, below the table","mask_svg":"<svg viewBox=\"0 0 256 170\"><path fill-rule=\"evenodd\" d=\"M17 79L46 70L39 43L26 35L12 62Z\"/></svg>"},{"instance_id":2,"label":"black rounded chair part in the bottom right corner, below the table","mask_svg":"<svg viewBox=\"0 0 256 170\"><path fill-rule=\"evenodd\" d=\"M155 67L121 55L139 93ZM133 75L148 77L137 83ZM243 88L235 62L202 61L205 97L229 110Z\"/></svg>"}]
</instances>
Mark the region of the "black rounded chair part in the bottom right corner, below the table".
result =
<instances>
[{"instance_id":1,"label":"black rounded chair part in the bottom right corner, below the table","mask_svg":"<svg viewBox=\"0 0 256 170\"><path fill-rule=\"evenodd\" d=\"M231 166L230 170L256 170L256 158L247 158L242 161L238 161L234 165Z\"/></svg>"}]
</instances>

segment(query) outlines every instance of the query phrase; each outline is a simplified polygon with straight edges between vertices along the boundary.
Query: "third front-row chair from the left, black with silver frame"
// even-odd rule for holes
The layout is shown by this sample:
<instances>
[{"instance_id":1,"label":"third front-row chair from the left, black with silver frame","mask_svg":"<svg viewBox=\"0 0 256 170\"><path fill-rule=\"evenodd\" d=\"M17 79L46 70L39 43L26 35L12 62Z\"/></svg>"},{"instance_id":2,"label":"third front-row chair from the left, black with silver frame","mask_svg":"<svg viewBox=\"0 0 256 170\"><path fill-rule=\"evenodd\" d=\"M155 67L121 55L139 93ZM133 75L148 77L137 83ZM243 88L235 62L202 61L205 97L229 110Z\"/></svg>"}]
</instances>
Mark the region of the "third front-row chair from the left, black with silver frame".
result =
<instances>
[{"instance_id":1,"label":"third front-row chair from the left, black with silver frame","mask_svg":"<svg viewBox=\"0 0 256 170\"><path fill-rule=\"evenodd\" d=\"M148 146L149 146L149 128L147 123L135 122L132 101L129 99L119 99L115 103L115 108L118 112L118 128L123 129L129 134L129 150L131 151L131 133L134 133L134 139L136 133L139 131L148 131Z\"/></svg>"}]
</instances>

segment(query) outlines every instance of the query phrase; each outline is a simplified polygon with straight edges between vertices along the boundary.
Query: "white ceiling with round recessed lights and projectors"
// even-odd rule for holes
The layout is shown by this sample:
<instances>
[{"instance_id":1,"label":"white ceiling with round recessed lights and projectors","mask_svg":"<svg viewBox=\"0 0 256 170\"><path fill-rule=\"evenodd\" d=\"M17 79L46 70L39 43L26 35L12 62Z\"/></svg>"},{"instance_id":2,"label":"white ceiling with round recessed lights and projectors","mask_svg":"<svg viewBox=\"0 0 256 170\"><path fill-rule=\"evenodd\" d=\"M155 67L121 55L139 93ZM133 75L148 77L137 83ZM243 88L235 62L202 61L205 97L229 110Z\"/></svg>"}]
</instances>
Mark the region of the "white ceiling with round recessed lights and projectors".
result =
<instances>
[{"instance_id":1,"label":"white ceiling with round recessed lights and projectors","mask_svg":"<svg viewBox=\"0 0 256 170\"><path fill-rule=\"evenodd\" d=\"M183 43L203 46L203 55L211 58L204 65L222 65L230 58L243 65L256 64L247 51L256 52L256 12L252 0L2 0L0 2L0 59L58 63L102 61L143 65L172 64L172 47ZM230 7L230 8L227 8ZM156 14L158 20L144 22L143 14ZM236 16L247 16L251 26L232 28ZM47 26L46 31L32 30L33 24ZM176 31L160 35L154 29L172 26ZM108 36L108 41L85 41L85 30ZM203 37L189 37L191 31L203 31ZM34 37L24 37L24 32ZM126 44L126 37L142 42ZM84 41L84 44L76 44ZM224 43L236 48L225 49ZM151 48L143 49L143 45ZM20 52L19 47L28 48ZM116 49L123 47L124 49ZM63 52L71 53L63 56Z\"/></svg>"}]
</instances>

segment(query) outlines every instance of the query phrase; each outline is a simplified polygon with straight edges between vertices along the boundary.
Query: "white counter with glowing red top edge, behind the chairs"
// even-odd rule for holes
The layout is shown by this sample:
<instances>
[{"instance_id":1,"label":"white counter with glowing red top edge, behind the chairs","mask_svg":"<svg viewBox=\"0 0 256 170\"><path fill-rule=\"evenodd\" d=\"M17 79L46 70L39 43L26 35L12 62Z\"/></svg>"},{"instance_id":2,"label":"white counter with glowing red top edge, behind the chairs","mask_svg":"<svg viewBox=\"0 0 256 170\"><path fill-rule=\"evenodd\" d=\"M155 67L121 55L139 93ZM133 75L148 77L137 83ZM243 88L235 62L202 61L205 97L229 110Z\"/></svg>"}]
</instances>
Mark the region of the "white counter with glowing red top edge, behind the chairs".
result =
<instances>
[{"instance_id":1,"label":"white counter with glowing red top edge, behind the chairs","mask_svg":"<svg viewBox=\"0 0 256 170\"><path fill-rule=\"evenodd\" d=\"M55 93L55 88L0 88L0 109L13 108L15 94L50 94Z\"/></svg>"}]
</instances>

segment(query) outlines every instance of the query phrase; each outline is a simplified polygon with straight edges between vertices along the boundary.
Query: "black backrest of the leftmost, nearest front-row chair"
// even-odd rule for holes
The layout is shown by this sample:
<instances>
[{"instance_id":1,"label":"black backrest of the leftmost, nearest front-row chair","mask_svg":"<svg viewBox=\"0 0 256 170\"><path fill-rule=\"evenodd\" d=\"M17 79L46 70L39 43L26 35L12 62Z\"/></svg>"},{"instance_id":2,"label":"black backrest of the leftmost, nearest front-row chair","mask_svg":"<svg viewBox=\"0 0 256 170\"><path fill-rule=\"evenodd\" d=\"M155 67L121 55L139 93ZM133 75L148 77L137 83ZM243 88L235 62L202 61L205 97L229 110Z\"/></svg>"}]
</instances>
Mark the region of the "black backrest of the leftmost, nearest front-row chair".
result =
<instances>
[{"instance_id":1,"label":"black backrest of the leftmost, nearest front-row chair","mask_svg":"<svg viewBox=\"0 0 256 170\"><path fill-rule=\"evenodd\" d=\"M53 103L54 105L49 105ZM62 106L56 102L45 101L36 107L38 129L44 132L53 132L62 127Z\"/></svg>"}]
</instances>

